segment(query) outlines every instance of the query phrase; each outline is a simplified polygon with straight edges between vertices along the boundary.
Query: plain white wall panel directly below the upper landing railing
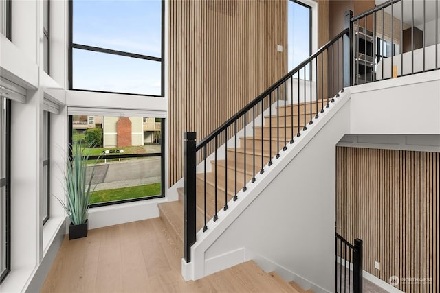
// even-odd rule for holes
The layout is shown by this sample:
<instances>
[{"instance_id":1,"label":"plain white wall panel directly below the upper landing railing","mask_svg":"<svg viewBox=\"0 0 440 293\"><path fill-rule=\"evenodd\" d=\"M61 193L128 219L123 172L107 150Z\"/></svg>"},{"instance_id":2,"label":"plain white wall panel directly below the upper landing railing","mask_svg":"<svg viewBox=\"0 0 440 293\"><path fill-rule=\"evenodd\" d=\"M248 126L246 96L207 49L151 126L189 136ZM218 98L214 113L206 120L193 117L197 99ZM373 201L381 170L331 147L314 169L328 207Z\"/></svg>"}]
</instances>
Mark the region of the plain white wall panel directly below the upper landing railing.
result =
<instances>
[{"instance_id":1,"label":"plain white wall panel directly below the upper landing railing","mask_svg":"<svg viewBox=\"0 0 440 293\"><path fill-rule=\"evenodd\" d=\"M440 134L440 71L351 88L351 134Z\"/></svg>"}]
</instances>

